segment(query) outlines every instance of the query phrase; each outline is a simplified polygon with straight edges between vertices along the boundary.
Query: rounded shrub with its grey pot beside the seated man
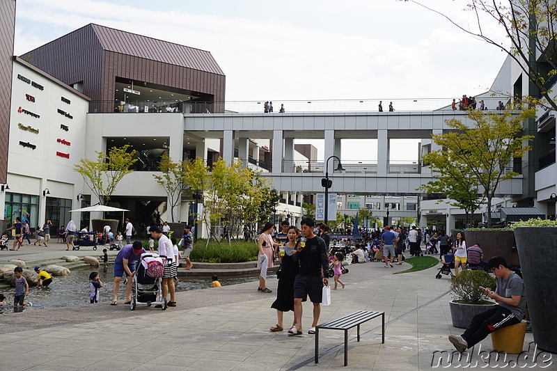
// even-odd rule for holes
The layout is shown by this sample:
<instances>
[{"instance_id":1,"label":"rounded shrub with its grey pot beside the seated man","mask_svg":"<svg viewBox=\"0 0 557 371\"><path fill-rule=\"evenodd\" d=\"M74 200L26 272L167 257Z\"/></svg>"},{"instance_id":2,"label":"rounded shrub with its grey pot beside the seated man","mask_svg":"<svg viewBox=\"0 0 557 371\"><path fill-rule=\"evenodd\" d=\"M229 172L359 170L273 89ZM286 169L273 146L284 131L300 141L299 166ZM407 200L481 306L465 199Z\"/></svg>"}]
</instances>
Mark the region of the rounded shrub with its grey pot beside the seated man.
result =
<instances>
[{"instance_id":1,"label":"rounded shrub with its grey pot beside the seated man","mask_svg":"<svg viewBox=\"0 0 557 371\"><path fill-rule=\"evenodd\" d=\"M480 287L495 289L496 279L485 271L461 271L450 282L453 300L449 302L453 326L466 329L473 316L496 305Z\"/></svg>"}]
</instances>

